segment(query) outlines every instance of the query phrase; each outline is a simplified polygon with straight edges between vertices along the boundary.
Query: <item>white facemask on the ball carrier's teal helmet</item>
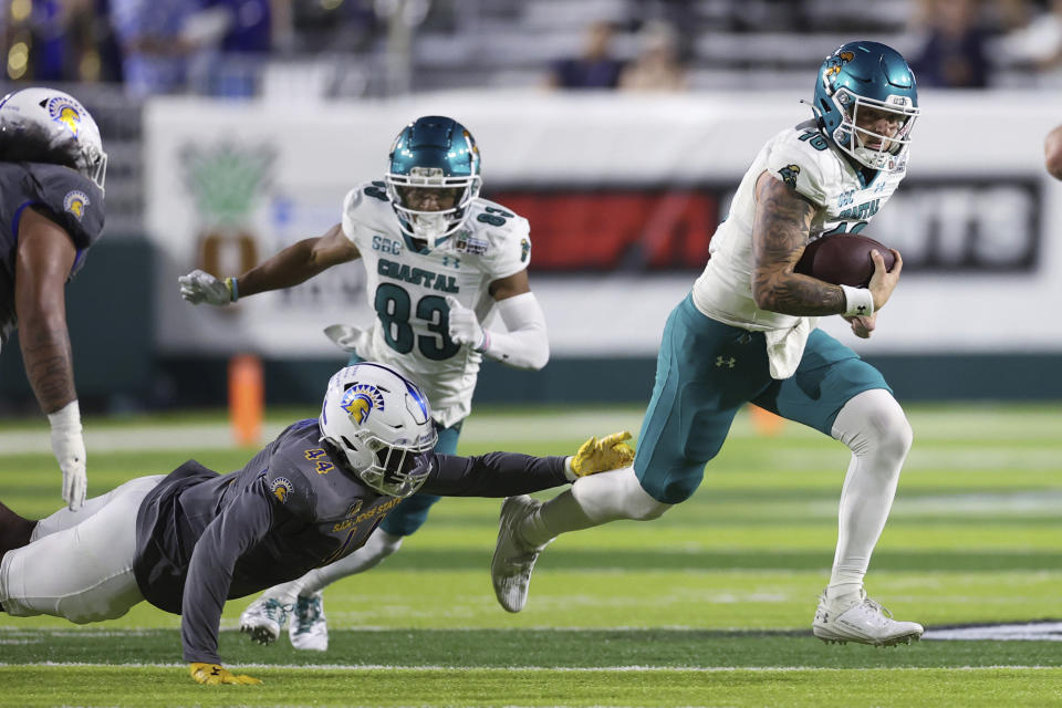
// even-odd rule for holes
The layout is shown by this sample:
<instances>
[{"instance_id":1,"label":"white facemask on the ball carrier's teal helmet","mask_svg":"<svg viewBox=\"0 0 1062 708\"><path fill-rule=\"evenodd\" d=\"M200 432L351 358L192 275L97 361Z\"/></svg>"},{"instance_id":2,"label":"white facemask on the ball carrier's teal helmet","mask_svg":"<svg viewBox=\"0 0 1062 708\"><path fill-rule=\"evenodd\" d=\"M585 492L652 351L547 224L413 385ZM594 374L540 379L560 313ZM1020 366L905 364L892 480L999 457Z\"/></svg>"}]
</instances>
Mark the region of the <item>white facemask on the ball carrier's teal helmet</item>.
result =
<instances>
[{"instance_id":1,"label":"white facemask on the ball carrier's teal helmet","mask_svg":"<svg viewBox=\"0 0 1062 708\"><path fill-rule=\"evenodd\" d=\"M886 101L876 101L844 87L839 88L832 98L842 115L841 124L831 135L837 147L871 169L896 169L900 164L899 156L910 145L910 132L919 110L910 105L906 96L894 95ZM861 111L867 110L895 116L899 123L896 134L883 135L860 127Z\"/></svg>"}]
</instances>

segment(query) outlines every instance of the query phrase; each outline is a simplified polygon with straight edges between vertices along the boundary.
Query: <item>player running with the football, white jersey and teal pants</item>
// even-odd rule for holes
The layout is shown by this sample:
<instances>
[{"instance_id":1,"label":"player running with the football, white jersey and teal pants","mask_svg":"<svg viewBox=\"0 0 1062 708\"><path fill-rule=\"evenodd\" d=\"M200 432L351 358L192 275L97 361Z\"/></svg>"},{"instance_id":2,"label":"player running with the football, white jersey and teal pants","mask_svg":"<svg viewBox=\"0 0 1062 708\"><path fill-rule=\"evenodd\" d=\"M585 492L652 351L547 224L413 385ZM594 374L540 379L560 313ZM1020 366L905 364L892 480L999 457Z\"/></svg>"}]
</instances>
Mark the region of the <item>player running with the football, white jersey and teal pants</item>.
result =
<instances>
[{"instance_id":1,"label":"player running with the football, white jersey and teal pants","mask_svg":"<svg viewBox=\"0 0 1062 708\"><path fill-rule=\"evenodd\" d=\"M881 373L815 329L842 315L861 337L899 280L874 253L867 288L794 272L804 248L856 233L885 208L907 170L918 94L907 62L877 42L850 42L823 62L814 115L772 137L746 173L711 258L664 329L656 384L629 468L590 478L542 504L502 506L491 563L501 605L519 612L534 561L558 534L615 519L655 519L688 499L746 403L812 427L852 450L833 571L812 631L826 642L909 643L866 596L863 577L893 503L912 430Z\"/></svg>"}]
</instances>

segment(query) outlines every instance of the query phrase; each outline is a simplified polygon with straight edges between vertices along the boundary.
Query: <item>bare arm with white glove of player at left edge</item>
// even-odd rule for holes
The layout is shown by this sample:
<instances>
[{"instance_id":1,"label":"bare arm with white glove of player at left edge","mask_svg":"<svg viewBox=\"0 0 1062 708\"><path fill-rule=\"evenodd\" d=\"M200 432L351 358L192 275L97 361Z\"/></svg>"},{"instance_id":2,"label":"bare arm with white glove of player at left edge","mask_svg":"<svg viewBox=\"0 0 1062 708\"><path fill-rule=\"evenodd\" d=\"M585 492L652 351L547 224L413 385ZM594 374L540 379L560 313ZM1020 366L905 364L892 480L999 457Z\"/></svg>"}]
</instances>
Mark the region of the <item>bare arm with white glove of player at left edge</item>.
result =
<instances>
[{"instance_id":1,"label":"bare arm with white glove of player at left edge","mask_svg":"<svg viewBox=\"0 0 1062 708\"><path fill-rule=\"evenodd\" d=\"M65 285L77 251L61 226L32 208L22 212L18 236L14 309L22 361L52 426L52 452L63 472L63 500L76 510L85 501L87 476Z\"/></svg>"}]
</instances>

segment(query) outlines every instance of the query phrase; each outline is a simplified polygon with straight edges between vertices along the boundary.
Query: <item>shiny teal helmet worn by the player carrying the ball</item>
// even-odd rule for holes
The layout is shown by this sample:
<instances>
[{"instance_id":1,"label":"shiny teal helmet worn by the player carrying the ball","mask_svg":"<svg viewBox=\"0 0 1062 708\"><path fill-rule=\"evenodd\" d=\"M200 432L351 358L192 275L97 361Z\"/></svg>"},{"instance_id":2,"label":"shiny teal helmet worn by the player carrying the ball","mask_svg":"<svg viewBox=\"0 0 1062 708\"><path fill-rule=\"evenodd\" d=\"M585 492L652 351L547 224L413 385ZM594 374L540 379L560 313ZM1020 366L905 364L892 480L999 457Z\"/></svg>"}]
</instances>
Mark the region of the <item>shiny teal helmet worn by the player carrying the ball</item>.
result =
<instances>
[{"instance_id":1,"label":"shiny teal helmet worn by the player carrying the ball","mask_svg":"<svg viewBox=\"0 0 1062 708\"><path fill-rule=\"evenodd\" d=\"M833 143L861 165L892 171L903 165L918 117L915 75L899 52L878 42L839 46L819 69L812 108ZM874 110L895 119L895 135L858 127L860 111Z\"/></svg>"}]
</instances>

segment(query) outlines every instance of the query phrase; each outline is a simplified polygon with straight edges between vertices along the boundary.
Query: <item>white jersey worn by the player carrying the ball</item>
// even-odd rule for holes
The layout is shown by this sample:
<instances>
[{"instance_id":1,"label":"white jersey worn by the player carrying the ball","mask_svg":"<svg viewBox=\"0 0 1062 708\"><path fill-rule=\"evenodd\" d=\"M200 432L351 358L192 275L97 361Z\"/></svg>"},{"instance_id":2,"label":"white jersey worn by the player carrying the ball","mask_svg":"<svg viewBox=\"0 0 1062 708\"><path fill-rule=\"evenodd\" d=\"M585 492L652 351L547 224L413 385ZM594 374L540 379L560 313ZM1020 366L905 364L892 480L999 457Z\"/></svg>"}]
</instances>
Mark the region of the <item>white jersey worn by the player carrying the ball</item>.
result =
<instances>
[{"instance_id":1,"label":"white jersey worn by the player carrying the ball","mask_svg":"<svg viewBox=\"0 0 1062 708\"><path fill-rule=\"evenodd\" d=\"M745 174L727 220L711 239L711 257L694 283L694 303L714 320L746 330L783 330L799 317L761 310L752 298L752 220L756 180L769 171L819 207L809 242L827 233L857 233L885 206L907 174L906 155L896 171L878 171L870 184L806 121L782 131L763 148Z\"/></svg>"}]
</instances>

